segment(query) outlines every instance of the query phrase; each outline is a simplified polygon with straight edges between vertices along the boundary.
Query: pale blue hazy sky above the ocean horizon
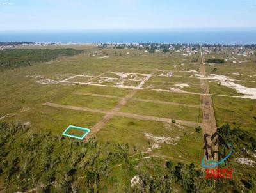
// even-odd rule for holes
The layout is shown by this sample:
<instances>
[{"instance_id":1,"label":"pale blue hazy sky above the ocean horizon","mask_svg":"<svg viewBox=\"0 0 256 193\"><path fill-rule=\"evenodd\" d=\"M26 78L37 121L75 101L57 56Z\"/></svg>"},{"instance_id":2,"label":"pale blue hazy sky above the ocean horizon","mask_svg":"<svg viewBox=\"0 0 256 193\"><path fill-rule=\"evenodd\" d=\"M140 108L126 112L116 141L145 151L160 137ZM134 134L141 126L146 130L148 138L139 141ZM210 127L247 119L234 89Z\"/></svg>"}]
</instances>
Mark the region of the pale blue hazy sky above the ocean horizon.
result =
<instances>
[{"instance_id":1,"label":"pale blue hazy sky above the ocean horizon","mask_svg":"<svg viewBox=\"0 0 256 193\"><path fill-rule=\"evenodd\" d=\"M256 0L0 0L0 30L256 28Z\"/></svg>"}]
</instances>

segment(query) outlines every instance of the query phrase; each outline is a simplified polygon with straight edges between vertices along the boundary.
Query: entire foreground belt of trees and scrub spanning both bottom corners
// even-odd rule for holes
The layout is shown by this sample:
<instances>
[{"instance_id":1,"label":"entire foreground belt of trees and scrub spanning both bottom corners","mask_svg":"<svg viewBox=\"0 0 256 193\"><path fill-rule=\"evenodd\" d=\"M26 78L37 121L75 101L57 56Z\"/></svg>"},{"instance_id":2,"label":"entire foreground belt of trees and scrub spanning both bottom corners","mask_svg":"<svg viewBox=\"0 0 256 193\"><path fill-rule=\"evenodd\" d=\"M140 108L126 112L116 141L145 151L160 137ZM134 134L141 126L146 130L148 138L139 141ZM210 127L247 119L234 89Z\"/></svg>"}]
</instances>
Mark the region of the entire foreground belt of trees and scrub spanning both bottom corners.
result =
<instances>
[{"instance_id":1,"label":"entire foreground belt of trees and scrub spanning both bottom corners","mask_svg":"<svg viewBox=\"0 0 256 193\"><path fill-rule=\"evenodd\" d=\"M230 159L255 151L255 137L240 128L223 125L218 133L234 145ZM228 166L222 167L234 168L243 187L236 178L206 180L204 171L193 163L174 164L152 157L145 162L147 169L136 169L138 162L129 157L129 144L106 141L100 145L94 137L80 141L51 133L36 134L19 121L0 123L0 145L0 177L7 192L25 192L34 187L40 187L36 192L109 192L109 187L121 181L113 174L116 166L140 179L131 187L131 177L126 176L121 192L255 192L255 171L240 173L243 171L229 165L230 159ZM227 153L220 151L223 156Z\"/></svg>"}]
</instances>

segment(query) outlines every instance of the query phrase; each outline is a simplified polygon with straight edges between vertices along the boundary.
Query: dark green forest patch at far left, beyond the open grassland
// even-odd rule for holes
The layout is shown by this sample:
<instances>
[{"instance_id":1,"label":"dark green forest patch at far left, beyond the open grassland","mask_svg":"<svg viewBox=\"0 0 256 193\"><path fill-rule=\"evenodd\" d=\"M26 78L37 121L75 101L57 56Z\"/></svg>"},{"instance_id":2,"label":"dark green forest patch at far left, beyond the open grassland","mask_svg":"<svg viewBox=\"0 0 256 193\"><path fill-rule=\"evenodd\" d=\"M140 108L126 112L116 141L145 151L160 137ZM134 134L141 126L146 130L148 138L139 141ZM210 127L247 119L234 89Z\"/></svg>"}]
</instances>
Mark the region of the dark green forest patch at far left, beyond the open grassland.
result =
<instances>
[{"instance_id":1,"label":"dark green forest patch at far left, beyond the open grassland","mask_svg":"<svg viewBox=\"0 0 256 193\"><path fill-rule=\"evenodd\" d=\"M76 49L4 49L0 51L0 70L52 61L59 56L74 56L81 52Z\"/></svg>"}]
</instances>

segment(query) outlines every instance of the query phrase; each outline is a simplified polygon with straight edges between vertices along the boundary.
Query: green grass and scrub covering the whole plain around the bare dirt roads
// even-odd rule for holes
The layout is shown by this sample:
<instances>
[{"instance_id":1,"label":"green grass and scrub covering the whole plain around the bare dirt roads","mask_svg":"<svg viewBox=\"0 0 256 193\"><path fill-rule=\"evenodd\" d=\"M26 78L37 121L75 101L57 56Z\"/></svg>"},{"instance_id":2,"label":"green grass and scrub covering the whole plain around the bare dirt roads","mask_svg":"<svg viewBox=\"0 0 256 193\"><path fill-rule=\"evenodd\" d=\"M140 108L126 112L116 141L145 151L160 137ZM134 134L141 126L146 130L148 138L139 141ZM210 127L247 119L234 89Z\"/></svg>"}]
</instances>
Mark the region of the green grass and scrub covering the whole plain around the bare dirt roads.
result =
<instances>
[{"instance_id":1,"label":"green grass and scrub covering the whole plain around the bare dirt roads","mask_svg":"<svg viewBox=\"0 0 256 193\"><path fill-rule=\"evenodd\" d=\"M218 129L228 143L234 144L234 153L225 163L227 165L221 164L221 167L234 169L234 178L216 181L205 180L204 169L200 166L204 155L204 139L200 127L113 116L99 132L90 139L81 141L61 134L68 125L92 128L104 118L104 113L42 105L45 102L56 102L109 111L131 89L58 81L75 75L119 77L111 72L161 75L173 70L172 77L152 77L145 82L143 88L170 87L199 93L200 81L195 77L197 72L184 72L200 68L198 53L186 58L182 56L183 51L172 50L172 54L163 54L161 50L166 45L157 49L152 44L143 45L143 49L150 50L152 47L160 52L149 54L140 49L129 50L126 45L125 49L118 50L113 49L113 45L49 45L45 48L55 52L54 49L69 47L82 50L83 54L58 59L54 56L51 62L45 62L51 59L34 61L32 56L26 56L27 51L31 52L30 49L45 53L40 45L26 46L28 50L9 51L22 52L21 61L29 60L31 65L23 68L11 67L10 70L0 72L0 118L1 121L6 121L0 123L0 191L26 192L36 188L35 192L255 192L254 168L236 161L239 157L255 160L255 100L211 96L218 127L224 123L236 127L226 129L227 126L223 126ZM182 47L184 45L177 45L175 50ZM221 49L217 49L214 54L205 55L205 58L230 57L228 54L219 54ZM94 54L96 51L97 54ZM0 54L1 52L6 50L0 51ZM109 57L100 58L101 56ZM232 64L228 61L218 66L206 65L205 68L208 73L212 73L218 67L214 72L218 75L255 81L253 57L255 56L236 56L237 59L246 59L248 63ZM193 59L194 62L191 63ZM19 58L14 57L13 61L19 62ZM36 65L33 65L34 62ZM233 74L234 72L241 75ZM134 75L125 79L134 79ZM90 79L76 77L70 81L88 82ZM100 79L93 81L100 83ZM180 88L175 84L189 84L189 87ZM237 81L237 84L255 88L255 82ZM209 85L211 93L241 95L218 82L209 82ZM116 98L79 95L74 92L111 95ZM157 104L136 99L179 104ZM195 106L188 107L186 104ZM166 117L170 122L172 119L173 122L202 122L200 104L201 95L141 89L120 111ZM77 130L70 132L81 134ZM220 153L224 155L222 149ZM131 187L134 176L138 176L140 183Z\"/></svg>"}]
</instances>

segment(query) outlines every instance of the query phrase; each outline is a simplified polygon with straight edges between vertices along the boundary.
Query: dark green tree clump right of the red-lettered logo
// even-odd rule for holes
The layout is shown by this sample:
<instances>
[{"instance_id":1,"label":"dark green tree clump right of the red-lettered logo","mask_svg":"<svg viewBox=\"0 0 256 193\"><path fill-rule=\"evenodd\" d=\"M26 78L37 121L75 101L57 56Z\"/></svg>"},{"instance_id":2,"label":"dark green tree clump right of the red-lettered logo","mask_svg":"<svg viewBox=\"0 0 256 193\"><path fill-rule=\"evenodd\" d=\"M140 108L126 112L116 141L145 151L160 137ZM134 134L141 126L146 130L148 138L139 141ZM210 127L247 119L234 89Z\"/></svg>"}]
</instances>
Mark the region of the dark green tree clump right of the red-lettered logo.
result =
<instances>
[{"instance_id":1,"label":"dark green tree clump right of the red-lettered logo","mask_svg":"<svg viewBox=\"0 0 256 193\"><path fill-rule=\"evenodd\" d=\"M232 190L233 192L255 192L256 191L256 171L252 166L241 165L236 162L236 158L247 158L256 160L253 156L256 150L256 135L244 131L239 127L230 128L230 125L225 124L218 128L218 134L226 143L232 144L234 153L228 158L225 164L221 164L222 168L232 168L233 178L230 181L222 181L221 187L223 192ZM224 158L229 150L224 146L219 146L218 156Z\"/></svg>"}]
</instances>

